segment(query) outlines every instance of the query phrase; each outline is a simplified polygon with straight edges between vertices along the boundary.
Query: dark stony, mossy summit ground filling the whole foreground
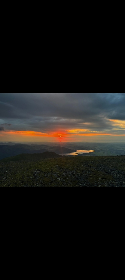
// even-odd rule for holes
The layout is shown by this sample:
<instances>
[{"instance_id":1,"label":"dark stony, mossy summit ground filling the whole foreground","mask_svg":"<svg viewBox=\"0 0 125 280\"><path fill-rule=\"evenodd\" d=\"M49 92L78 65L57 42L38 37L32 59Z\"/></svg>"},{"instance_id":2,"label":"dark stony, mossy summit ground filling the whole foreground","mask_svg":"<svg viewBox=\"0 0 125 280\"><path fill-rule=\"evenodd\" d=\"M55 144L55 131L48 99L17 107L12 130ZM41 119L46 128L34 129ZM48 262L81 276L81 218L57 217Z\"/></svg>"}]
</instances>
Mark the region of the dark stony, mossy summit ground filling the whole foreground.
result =
<instances>
[{"instance_id":1,"label":"dark stony, mossy summit ground filling the whole foreground","mask_svg":"<svg viewBox=\"0 0 125 280\"><path fill-rule=\"evenodd\" d=\"M125 187L125 155L0 162L1 187Z\"/></svg>"}]
</instances>

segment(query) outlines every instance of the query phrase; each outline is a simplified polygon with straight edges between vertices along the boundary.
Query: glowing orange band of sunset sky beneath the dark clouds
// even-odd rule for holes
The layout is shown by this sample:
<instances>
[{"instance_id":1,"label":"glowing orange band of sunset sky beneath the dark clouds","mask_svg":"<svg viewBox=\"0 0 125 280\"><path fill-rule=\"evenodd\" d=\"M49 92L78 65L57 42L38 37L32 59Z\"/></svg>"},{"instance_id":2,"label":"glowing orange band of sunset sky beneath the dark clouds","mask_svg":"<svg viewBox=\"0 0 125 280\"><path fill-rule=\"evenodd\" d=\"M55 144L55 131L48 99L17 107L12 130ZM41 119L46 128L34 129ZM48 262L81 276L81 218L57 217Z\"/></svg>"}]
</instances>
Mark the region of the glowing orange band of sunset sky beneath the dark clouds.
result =
<instances>
[{"instance_id":1,"label":"glowing orange band of sunset sky beneath the dark clouds","mask_svg":"<svg viewBox=\"0 0 125 280\"><path fill-rule=\"evenodd\" d=\"M0 141L86 141L87 139L96 140L96 136L100 136L102 138L107 137L107 139L111 139L111 136L121 137L125 136L125 121L121 120L108 120L112 122L112 126L114 129L110 130L110 132L97 132L89 129L67 129L63 131L55 131L55 132L37 132L37 131L13 131L6 130L0 132ZM122 133L118 133L118 130L122 129ZM60 137L61 136L61 137ZM99 138L98 138L99 139Z\"/></svg>"}]
</instances>

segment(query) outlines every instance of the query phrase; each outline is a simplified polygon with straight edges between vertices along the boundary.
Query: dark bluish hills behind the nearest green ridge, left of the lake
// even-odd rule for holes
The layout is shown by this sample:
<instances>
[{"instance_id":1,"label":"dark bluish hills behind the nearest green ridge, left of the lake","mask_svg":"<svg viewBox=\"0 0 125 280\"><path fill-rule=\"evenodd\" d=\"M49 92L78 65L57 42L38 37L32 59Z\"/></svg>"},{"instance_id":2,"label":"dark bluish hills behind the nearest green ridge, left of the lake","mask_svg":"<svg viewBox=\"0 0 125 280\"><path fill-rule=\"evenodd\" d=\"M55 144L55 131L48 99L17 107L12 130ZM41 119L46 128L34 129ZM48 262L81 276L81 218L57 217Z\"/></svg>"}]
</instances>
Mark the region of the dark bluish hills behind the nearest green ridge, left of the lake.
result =
<instances>
[{"instance_id":1,"label":"dark bluish hills behind the nearest green ridge, left of the lake","mask_svg":"<svg viewBox=\"0 0 125 280\"><path fill-rule=\"evenodd\" d=\"M0 145L0 160L3 158L13 157L19 154L40 154L43 152L54 152L56 154L72 153L75 149L69 149L60 146L49 145L28 145L28 144L15 144L15 145Z\"/></svg>"}]
</instances>

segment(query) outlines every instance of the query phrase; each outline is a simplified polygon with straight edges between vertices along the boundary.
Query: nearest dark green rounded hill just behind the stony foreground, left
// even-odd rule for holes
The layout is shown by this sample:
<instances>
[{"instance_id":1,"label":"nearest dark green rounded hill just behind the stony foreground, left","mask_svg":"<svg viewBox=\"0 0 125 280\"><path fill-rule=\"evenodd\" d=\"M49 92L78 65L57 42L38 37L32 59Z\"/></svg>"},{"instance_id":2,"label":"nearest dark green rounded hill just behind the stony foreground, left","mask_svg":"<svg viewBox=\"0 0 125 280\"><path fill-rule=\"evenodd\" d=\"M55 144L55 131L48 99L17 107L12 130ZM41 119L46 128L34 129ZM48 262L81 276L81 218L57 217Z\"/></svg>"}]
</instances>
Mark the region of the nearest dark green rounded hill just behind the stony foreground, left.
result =
<instances>
[{"instance_id":1,"label":"nearest dark green rounded hill just behind the stony foreground, left","mask_svg":"<svg viewBox=\"0 0 125 280\"><path fill-rule=\"evenodd\" d=\"M25 161L25 160L28 161L28 160L43 159L43 158L62 158L62 156L54 152L44 152L41 154L18 154L14 157L3 158L0 160L0 162Z\"/></svg>"}]
</instances>

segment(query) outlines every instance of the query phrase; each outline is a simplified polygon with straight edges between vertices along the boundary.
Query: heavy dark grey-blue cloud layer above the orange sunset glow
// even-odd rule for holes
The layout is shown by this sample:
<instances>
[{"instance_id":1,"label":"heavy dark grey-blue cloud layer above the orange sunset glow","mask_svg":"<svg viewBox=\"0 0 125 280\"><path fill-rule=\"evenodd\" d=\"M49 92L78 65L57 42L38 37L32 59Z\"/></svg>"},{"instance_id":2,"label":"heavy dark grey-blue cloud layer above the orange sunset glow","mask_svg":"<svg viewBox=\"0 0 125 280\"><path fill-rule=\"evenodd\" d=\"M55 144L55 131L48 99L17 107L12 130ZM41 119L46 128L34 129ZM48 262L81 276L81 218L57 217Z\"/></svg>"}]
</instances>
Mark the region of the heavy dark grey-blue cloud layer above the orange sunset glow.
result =
<instances>
[{"instance_id":1,"label":"heavy dark grey-blue cloud layer above the orange sunset glow","mask_svg":"<svg viewBox=\"0 0 125 280\"><path fill-rule=\"evenodd\" d=\"M125 94L0 94L0 119L12 130L110 130L107 119L125 120Z\"/></svg>"}]
</instances>

